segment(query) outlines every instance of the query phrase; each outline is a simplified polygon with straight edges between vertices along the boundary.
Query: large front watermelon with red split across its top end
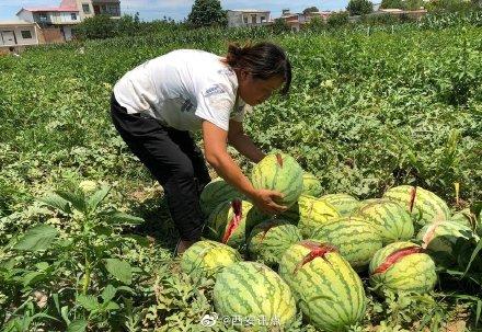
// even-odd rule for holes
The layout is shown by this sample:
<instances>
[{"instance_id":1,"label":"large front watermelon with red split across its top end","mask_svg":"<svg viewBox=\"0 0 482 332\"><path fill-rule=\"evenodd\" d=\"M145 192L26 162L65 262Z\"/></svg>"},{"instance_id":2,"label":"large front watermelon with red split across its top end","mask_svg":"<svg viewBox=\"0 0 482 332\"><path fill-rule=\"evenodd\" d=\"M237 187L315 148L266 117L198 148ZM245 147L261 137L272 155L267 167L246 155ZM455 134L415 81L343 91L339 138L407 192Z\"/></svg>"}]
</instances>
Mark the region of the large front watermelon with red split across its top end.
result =
<instances>
[{"instance_id":1,"label":"large front watermelon with red split across its top end","mask_svg":"<svg viewBox=\"0 0 482 332\"><path fill-rule=\"evenodd\" d=\"M282 257L279 275L318 329L341 331L365 316L362 279L334 247L315 240L292 244Z\"/></svg>"}]
</instances>

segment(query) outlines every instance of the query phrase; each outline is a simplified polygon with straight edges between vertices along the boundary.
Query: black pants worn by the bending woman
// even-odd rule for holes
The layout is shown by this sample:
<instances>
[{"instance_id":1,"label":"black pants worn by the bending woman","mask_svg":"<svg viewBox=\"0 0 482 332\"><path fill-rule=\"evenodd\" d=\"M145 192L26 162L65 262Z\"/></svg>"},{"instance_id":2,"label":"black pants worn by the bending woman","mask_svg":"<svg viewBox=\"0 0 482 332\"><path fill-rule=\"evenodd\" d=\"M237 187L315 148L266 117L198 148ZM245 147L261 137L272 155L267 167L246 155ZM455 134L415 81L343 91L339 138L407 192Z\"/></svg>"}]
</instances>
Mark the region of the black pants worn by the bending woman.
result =
<instances>
[{"instance_id":1,"label":"black pants worn by the bending woman","mask_svg":"<svg viewBox=\"0 0 482 332\"><path fill-rule=\"evenodd\" d=\"M181 239L198 240L205 222L199 193L210 178L203 152L190 133L165 127L146 115L127 114L114 94L111 115L124 141L164 188Z\"/></svg>"}]
</instances>

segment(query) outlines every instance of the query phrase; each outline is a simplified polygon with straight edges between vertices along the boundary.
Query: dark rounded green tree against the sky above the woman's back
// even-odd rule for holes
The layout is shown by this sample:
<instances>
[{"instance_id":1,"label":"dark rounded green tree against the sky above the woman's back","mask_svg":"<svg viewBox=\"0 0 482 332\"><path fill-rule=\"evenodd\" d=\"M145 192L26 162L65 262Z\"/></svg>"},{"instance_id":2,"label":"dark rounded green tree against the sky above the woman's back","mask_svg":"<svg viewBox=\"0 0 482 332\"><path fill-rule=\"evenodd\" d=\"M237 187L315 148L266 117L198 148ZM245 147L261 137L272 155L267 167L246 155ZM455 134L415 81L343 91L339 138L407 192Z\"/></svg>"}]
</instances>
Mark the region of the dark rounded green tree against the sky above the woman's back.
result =
<instances>
[{"instance_id":1,"label":"dark rounded green tree against the sky above the woman's back","mask_svg":"<svg viewBox=\"0 0 482 332\"><path fill-rule=\"evenodd\" d=\"M196 0L187 16L187 22L195 27L226 26L228 18L219 0Z\"/></svg>"}]
</instances>

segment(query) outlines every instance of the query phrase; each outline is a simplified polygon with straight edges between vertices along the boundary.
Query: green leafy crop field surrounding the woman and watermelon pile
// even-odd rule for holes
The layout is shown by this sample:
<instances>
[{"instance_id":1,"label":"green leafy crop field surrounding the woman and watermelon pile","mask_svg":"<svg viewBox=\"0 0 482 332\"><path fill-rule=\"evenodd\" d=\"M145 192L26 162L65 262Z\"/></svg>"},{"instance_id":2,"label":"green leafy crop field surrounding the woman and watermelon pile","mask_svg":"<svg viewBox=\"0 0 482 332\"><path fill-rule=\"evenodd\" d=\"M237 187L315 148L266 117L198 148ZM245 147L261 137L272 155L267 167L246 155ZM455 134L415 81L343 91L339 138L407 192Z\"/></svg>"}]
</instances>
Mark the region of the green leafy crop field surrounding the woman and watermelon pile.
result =
<instances>
[{"instance_id":1,"label":"green leafy crop field surrounding the woman and watermelon pile","mask_svg":"<svg viewBox=\"0 0 482 332\"><path fill-rule=\"evenodd\" d=\"M108 102L116 80L147 59L176 48L223 54L248 39L278 43L294 66L289 98L257 106L248 133L295 157L322 194L366 199L418 185L452 211L482 199L481 27L167 30L0 57L2 331L225 330L199 325L214 311L213 281L193 284L172 257L162 190L111 125ZM100 191L83 196L92 185ZM368 291L352 331L477 331L482 276L464 272L439 271L427 295ZM317 330L298 312L289 331Z\"/></svg>"}]
</instances>

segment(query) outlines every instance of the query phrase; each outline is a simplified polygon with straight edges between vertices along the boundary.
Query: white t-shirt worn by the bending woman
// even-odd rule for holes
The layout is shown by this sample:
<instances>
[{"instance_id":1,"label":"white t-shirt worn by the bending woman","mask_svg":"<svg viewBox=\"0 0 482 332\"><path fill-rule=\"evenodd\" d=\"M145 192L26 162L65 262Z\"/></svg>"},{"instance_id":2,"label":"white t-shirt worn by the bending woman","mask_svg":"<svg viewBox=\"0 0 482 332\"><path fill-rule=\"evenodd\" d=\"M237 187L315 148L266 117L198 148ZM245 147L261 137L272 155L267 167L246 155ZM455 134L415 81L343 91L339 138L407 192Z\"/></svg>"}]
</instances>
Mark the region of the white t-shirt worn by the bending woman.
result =
<instances>
[{"instance_id":1,"label":"white t-shirt worn by the bending woman","mask_svg":"<svg viewBox=\"0 0 482 332\"><path fill-rule=\"evenodd\" d=\"M205 119L228 131L229 121L242 122L250 106L237 102L236 72L220 59L195 49L168 53L120 78L115 99L127 113L148 114L179 130L198 130Z\"/></svg>"}]
</instances>

